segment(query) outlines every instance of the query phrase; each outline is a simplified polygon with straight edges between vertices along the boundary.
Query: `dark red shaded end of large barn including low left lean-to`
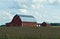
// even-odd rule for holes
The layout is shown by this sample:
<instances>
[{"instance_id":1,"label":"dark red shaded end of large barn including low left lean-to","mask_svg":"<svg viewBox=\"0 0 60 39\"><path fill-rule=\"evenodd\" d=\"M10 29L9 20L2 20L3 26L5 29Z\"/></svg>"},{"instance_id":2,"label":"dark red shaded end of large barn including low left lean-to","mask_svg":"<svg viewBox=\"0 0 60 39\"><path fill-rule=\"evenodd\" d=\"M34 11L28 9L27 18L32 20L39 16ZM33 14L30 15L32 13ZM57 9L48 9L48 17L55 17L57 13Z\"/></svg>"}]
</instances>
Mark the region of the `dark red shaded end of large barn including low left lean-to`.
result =
<instances>
[{"instance_id":1,"label":"dark red shaded end of large barn including low left lean-to","mask_svg":"<svg viewBox=\"0 0 60 39\"><path fill-rule=\"evenodd\" d=\"M22 21L19 16L14 16L10 23L7 23L6 26L22 26Z\"/></svg>"}]
</instances>

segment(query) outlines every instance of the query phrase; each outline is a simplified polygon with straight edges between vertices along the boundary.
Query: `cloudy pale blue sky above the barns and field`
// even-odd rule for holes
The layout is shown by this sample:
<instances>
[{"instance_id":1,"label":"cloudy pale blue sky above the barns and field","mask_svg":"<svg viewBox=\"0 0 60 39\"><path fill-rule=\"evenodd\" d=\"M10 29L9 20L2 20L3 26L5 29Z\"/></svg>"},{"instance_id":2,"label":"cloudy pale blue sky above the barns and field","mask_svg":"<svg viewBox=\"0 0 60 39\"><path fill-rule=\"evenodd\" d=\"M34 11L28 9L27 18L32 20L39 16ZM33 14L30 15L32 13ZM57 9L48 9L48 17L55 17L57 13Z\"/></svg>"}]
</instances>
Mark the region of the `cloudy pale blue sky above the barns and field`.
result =
<instances>
[{"instance_id":1,"label":"cloudy pale blue sky above the barns and field","mask_svg":"<svg viewBox=\"0 0 60 39\"><path fill-rule=\"evenodd\" d=\"M0 0L0 25L16 14L32 15L37 23L60 23L60 0Z\"/></svg>"}]
</instances>

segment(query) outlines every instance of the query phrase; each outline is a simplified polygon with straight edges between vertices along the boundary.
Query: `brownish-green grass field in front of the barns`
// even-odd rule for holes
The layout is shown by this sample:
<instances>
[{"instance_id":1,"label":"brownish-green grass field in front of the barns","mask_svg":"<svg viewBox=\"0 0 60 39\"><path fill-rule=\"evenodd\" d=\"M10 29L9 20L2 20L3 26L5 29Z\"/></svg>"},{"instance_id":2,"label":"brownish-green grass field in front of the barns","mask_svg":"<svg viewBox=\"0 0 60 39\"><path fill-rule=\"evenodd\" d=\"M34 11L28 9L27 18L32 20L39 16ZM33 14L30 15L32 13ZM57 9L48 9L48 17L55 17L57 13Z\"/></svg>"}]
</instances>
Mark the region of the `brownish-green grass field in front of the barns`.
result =
<instances>
[{"instance_id":1,"label":"brownish-green grass field in front of the barns","mask_svg":"<svg viewBox=\"0 0 60 39\"><path fill-rule=\"evenodd\" d=\"M60 28L0 27L0 39L60 39Z\"/></svg>"}]
</instances>

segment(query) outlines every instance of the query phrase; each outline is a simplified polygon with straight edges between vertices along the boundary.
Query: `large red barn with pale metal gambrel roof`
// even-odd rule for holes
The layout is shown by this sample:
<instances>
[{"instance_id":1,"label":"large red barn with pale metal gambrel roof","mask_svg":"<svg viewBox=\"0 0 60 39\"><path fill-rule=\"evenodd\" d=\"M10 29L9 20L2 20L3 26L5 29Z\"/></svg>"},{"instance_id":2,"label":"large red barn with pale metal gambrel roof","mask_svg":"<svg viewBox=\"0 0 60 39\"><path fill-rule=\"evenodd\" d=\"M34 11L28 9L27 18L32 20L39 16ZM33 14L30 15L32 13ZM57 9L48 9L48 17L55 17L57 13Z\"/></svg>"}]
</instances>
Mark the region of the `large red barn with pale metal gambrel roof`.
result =
<instances>
[{"instance_id":1,"label":"large red barn with pale metal gambrel roof","mask_svg":"<svg viewBox=\"0 0 60 39\"><path fill-rule=\"evenodd\" d=\"M33 16L29 15L15 15L10 23L6 26L36 26L37 22Z\"/></svg>"}]
</instances>

